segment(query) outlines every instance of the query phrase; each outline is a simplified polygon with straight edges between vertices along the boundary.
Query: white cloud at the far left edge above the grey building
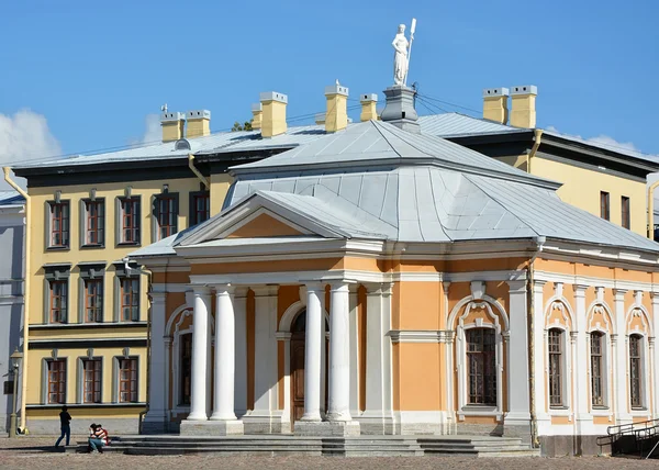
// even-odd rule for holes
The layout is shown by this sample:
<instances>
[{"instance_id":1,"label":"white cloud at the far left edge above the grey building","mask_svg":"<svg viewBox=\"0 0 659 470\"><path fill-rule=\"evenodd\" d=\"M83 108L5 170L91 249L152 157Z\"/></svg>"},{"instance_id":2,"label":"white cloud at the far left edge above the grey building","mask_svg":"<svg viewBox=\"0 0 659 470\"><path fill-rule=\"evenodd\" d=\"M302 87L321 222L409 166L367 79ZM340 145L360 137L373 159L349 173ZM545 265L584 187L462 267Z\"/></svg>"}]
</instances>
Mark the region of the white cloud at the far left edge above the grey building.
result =
<instances>
[{"instance_id":1,"label":"white cloud at the far left edge above the grey building","mask_svg":"<svg viewBox=\"0 0 659 470\"><path fill-rule=\"evenodd\" d=\"M0 114L0 166L15 166L30 160L44 159L62 154L62 147L51 134L43 114L21 110L13 115ZM15 179L25 187L23 178ZM11 187L0 178L0 190Z\"/></svg>"}]
</instances>

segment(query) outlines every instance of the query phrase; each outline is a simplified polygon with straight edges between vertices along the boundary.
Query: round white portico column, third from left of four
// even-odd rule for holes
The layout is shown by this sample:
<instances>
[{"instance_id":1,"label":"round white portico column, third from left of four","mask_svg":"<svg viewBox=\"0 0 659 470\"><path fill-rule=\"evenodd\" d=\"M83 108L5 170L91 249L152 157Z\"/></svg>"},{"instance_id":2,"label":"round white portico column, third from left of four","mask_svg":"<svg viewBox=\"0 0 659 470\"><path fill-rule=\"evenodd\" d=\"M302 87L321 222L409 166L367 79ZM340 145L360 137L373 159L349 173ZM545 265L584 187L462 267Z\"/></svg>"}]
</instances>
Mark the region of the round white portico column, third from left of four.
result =
<instances>
[{"instance_id":1,"label":"round white portico column, third from left of four","mask_svg":"<svg viewBox=\"0 0 659 470\"><path fill-rule=\"evenodd\" d=\"M306 284L306 331L304 345L304 415L302 421L321 421L321 348L324 343L320 283Z\"/></svg>"}]
</instances>

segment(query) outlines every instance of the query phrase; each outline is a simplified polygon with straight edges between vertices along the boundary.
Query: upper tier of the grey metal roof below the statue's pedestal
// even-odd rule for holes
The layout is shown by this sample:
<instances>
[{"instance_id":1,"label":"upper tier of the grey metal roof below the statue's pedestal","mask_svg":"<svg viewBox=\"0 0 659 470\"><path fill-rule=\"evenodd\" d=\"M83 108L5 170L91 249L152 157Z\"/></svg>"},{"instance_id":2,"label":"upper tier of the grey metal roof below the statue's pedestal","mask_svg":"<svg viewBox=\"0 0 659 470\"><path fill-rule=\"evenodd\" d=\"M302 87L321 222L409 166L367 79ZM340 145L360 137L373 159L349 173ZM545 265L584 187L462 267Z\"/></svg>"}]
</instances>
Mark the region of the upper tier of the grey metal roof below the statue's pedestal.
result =
<instances>
[{"instance_id":1,"label":"upper tier of the grey metal roof below the statue's pedestal","mask_svg":"<svg viewBox=\"0 0 659 470\"><path fill-rule=\"evenodd\" d=\"M291 171L339 166L400 165L426 161L465 171L476 171L535 184L558 188L558 183L532 176L507 164L490 158L440 137L411 134L387 122L368 121L336 134L264 160L232 167L236 175L253 171Z\"/></svg>"}]
</instances>

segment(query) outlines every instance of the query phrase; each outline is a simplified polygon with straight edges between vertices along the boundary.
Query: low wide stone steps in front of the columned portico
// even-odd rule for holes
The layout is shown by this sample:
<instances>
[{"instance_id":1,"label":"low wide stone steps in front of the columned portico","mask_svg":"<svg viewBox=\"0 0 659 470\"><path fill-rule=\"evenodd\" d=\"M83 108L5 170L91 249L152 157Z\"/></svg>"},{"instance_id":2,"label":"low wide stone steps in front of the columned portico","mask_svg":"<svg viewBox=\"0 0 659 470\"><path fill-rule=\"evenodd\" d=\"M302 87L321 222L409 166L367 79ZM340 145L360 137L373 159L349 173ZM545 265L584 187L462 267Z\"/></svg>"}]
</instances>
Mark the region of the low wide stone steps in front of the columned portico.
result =
<instances>
[{"instance_id":1,"label":"low wide stone steps in front of the columned portico","mask_svg":"<svg viewBox=\"0 0 659 470\"><path fill-rule=\"evenodd\" d=\"M78 443L78 451L87 443ZM521 439L491 436L359 436L304 437L293 435L249 435L226 437L125 436L114 438L107 452L139 456L237 455L416 457L458 455L471 457L539 456Z\"/></svg>"}]
</instances>

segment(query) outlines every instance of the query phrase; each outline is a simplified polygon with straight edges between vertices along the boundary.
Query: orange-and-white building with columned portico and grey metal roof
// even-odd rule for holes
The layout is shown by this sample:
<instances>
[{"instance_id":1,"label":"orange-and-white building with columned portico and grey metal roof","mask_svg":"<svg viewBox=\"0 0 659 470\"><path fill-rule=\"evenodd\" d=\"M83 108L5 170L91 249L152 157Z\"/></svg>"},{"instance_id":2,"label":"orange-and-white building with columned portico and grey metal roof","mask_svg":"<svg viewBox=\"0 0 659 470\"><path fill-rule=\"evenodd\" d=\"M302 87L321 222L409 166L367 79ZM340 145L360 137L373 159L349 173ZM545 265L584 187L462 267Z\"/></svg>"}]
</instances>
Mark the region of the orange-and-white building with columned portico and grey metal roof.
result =
<instances>
[{"instance_id":1,"label":"orange-and-white building with columned portico and grey metal roof","mask_svg":"<svg viewBox=\"0 0 659 470\"><path fill-rule=\"evenodd\" d=\"M221 214L131 255L158 299L154 429L565 455L659 417L659 245L417 132L412 91L388 92L406 112L233 168Z\"/></svg>"}]
</instances>

